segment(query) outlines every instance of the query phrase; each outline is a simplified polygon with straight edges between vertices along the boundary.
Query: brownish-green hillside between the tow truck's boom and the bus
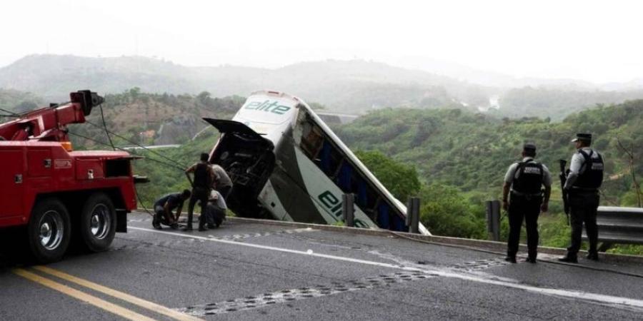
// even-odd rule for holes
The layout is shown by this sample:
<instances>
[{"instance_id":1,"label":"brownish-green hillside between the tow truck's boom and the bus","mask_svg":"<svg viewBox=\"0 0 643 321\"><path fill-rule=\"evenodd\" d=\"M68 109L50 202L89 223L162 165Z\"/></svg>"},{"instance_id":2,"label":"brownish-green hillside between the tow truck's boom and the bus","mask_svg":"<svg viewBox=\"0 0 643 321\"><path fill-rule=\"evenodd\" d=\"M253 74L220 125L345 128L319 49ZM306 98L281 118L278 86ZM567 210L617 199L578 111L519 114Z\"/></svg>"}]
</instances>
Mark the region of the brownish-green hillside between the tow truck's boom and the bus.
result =
<instances>
[{"instance_id":1,"label":"brownish-green hillside between the tow truck's boom and the bus","mask_svg":"<svg viewBox=\"0 0 643 321\"><path fill-rule=\"evenodd\" d=\"M244 98L238 96L212 98L205 91L197 96L175 96L141 93L139 88L132 88L124 93L106 95L102 107L106 127L122 136L112 137L116 146L122 147L132 146L131 142L143 145L186 143L208 126L201 118L230 118L243 101ZM107 142L99 108L94 108L88 121L70 126L71 132ZM81 146L96 145L78 136L72 135L72 138Z\"/></svg>"}]
</instances>

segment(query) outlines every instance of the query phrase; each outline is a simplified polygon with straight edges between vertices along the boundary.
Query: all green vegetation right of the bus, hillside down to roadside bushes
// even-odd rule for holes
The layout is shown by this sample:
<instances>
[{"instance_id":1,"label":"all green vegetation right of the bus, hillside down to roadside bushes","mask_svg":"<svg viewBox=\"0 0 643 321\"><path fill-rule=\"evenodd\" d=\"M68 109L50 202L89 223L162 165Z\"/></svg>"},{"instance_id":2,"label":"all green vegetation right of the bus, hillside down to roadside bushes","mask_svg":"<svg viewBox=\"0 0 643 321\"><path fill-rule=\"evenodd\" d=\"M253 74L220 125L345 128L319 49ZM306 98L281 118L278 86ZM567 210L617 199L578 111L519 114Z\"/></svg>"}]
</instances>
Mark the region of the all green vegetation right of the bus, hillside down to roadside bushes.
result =
<instances>
[{"instance_id":1,"label":"all green vegetation right of the bus, hillside down to roadside bushes","mask_svg":"<svg viewBox=\"0 0 643 321\"><path fill-rule=\"evenodd\" d=\"M602 205L638 205L629 158L619 148L619 141L633 152L634 175L640 180L643 101L594 108L560 123L539 118L498 120L459 109L389 109L369 113L336 131L353 150L384 153L417 170L422 186L409 194L420 196L422 222L438 235L486 238L482 204L500 198L504 173L519 160L522 144L537 144L537 158L549 166L555 178L559 158L571 158L574 148L570 140L581 131L594 134L594 148L607 161ZM365 163L372 166L378 162ZM399 180L409 178L383 183L394 186ZM539 220L541 244L567 246L569 228L564 223L557 180L549 209ZM507 230L504 226L503 233ZM620 245L613 251L643 254L643 247Z\"/></svg>"}]
</instances>

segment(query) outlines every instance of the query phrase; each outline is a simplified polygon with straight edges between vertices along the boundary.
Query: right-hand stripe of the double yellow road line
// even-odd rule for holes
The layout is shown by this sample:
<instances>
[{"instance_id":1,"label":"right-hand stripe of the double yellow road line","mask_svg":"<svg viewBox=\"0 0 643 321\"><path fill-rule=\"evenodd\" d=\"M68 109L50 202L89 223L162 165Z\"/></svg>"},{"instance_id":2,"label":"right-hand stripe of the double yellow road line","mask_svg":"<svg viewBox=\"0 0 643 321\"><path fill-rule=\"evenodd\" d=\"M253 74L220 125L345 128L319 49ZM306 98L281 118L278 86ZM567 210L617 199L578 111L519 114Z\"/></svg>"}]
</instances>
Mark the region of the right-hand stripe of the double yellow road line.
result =
<instances>
[{"instance_id":1,"label":"right-hand stripe of the double yellow road line","mask_svg":"<svg viewBox=\"0 0 643 321\"><path fill-rule=\"evenodd\" d=\"M156 313L160 313L161 315L166 315L167 317L171 317L175 320L181 320L181 321L196 321L196 320L201 320L198 317L193 317L191 315L186 315L184 313L181 313L179 311L171 310L168 307L164 307L163 305L158 305L154 302L149 302L146 300L143 300L139 297L134 297L134 295L129 295L124 292L120 292L114 289L111 289L109 287L105 287L103 285L96 284L94 282L88 281L81 279L80 277L75 277L74 275L69 275L66 274L65 272L61 272L59 270L54 270L51 267L46 267L46 266L35 266L34 270L39 270L40 272L47 273L49 275L54 275L55 277L59 277L63 280L67 280L72 283L76 283L77 285L81 285L84 287L88 287L91 290L95 290L97 292L104 293L106 295L110 295L112 297L116 297L117 299L129 302L133 305L138 305L139 307L143 307L147 310L154 311Z\"/></svg>"}]
</instances>

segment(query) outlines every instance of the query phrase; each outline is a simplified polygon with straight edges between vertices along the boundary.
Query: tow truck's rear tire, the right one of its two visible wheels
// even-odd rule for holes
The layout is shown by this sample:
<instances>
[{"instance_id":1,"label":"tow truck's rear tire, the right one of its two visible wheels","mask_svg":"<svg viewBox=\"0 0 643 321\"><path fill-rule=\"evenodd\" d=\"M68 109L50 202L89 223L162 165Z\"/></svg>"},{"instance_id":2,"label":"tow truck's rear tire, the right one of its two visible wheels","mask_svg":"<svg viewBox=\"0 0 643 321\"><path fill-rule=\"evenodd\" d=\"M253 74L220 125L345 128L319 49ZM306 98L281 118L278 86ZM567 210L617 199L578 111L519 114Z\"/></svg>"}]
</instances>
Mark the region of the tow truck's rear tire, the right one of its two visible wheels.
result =
<instances>
[{"instance_id":1,"label":"tow truck's rear tire, the right one of its two visible wheels","mask_svg":"<svg viewBox=\"0 0 643 321\"><path fill-rule=\"evenodd\" d=\"M89 196L81 210L78 232L87 250L102 252L109 248L116 233L116 210L109 196Z\"/></svg>"}]
</instances>

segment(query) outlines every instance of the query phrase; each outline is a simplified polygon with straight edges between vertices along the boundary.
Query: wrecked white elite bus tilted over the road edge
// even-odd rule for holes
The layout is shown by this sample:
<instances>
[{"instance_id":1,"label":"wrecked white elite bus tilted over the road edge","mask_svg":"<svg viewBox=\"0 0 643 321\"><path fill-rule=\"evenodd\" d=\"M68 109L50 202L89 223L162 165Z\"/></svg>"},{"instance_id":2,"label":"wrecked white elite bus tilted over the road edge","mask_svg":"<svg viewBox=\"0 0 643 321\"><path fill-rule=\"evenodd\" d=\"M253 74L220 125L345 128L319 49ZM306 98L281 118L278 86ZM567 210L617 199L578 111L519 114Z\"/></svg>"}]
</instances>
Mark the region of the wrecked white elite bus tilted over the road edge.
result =
<instances>
[{"instance_id":1,"label":"wrecked white elite bus tilted over the road edge","mask_svg":"<svg viewBox=\"0 0 643 321\"><path fill-rule=\"evenodd\" d=\"M355 226L408 230L406 207L301 99L257 91L232 120L204 120L221 132L210 161L234 183L236 215L332 225L344 219L342 194L354 193Z\"/></svg>"}]
</instances>

